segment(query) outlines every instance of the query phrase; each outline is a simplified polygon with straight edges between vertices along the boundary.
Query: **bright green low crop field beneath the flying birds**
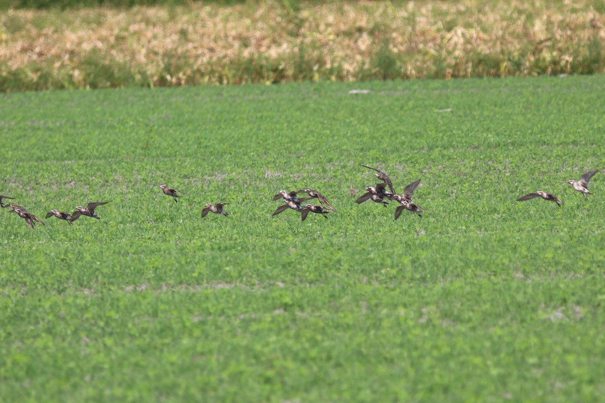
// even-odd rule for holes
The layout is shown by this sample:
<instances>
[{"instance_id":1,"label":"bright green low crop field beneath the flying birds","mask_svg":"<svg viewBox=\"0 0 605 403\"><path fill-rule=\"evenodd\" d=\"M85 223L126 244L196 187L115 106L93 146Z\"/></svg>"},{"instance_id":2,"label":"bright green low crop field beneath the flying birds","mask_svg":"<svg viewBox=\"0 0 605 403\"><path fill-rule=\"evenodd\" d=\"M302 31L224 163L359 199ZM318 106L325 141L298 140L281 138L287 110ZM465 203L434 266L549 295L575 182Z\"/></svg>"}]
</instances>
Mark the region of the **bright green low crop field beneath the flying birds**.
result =
<instances>
[{"instance_id":1,"label":"bright green low crop field beneath the flying birds","mask_svg":"<svg viewBox=\"0 0 605 403\"><path fill-rule=\"evenodd\" d=\"M600 401L604 92L580 76L1 95L0 195L46 225L0 219L0 401ZM399 192L422 179L430 213L355 204L376 184L358 163ZM585 202L566 181L589 170ZM304 188L337 211L271 216ZM536 190L563 207L515 201ZM44 219L88 202L108 202L100 221ZM229 217L201 218L208 202Z\"/></svg>"}]
</instances>

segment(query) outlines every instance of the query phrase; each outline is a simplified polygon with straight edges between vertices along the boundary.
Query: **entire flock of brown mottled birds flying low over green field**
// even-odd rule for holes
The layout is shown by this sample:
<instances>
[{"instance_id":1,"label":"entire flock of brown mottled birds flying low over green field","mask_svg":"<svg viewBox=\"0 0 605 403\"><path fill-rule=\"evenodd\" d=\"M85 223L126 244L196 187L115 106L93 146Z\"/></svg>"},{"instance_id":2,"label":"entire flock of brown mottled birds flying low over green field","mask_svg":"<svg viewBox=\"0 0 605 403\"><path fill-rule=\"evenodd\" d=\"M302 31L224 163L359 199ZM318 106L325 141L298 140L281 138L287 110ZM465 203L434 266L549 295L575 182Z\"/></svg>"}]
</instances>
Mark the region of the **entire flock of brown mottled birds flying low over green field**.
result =
<instances>
[{"instance_id":1,"label":"entire flock of brown mottled birds flying low over green field","mask_svg":"<svg viewBox=\"0 0 605 403\"><path fill-rule=\"evenodd\" d=\"M376 171L376 178L380 179L381 182L379 182L375 186L366 187L365 190L367 192L364 193L363 195L361 195L355 201L357 204L361 204L365 201L371 200L373 202L382 204L384 207L387 207L388 202L385 199L395 201L395 202L399 203L399 205L395 209L395 219L399 218L402 211L404 211L404 210L409 210L412 213L416 213L420 217L422 217L422 213L424 211L427 211L427 213L430 213L430 211L428 211L426 208L420 207L420 205L417 205L416 203L412 202L412 195L414 193L414 190L416 190L416 187L420 184L420 179L407 185L404 189L404 192L402 192L401 195L398 195L395 192L395 190L393 189L393 182L391 182L391 179L388 177L388 175L386 173L384 173L381 170L378 170L376 168L368 167L368 166L365 166L362 164L359 164L359 165L361 165L362 167L365 167L368 169L373 169L374 171ZM587 200L587 195L592 195L592 193L590 193L588 191L588 182L590 181L590 178L592 178L595 175L595 173L597 173L597 172L598 171L586 172L586 173L584 173L584 175L582 175L580 177L580 181L576 182L576 181L570 180L570 181L567 181L567 183L571 184L575 190L582 193L584 195L584 199ZM177 193L182 193L183 195L187 195L187 193L180 192L179 190L169 188L166 185L157 185L157 186L160 187L160 189L162 189L162 192L166 196L171 196L175 202L177 202L177 198L180 197ZM387 190L387 186L388 186L388 190L390 190L390 192ZM308 197L298 198L299 193L306 193L306 195ZM529 193L528 195L522 196L522 197L518 198L517 201L526 201L526 200L534 199L534 198L543 198L547 201L554 201L557 203L558 207L561 207L561 205L563 205L563 202L559 198L557 198L557 196L553 195L552 193L543 192L541 190L538 190L537 192ZM12 210L10 210L8 212L18 214L19 217L25 219L25 222L27 222L27 224L31 228L34 228L34 222L38 222L39 224L45 225L41 219L34 216L34 214L31 214L24 207L17 205L15 203L4 204L4 203L2 203L2 199L14 200L14 198L10 198L8 196L0 196L0 207L12 208ZM273 211L273 214L271 214L272 216L276 216L277 214L281 214L284 211L291 209L291 210L299 211L299 213L301 213L301 221L305 221L305 219L307 218L309 213L321 214L321 216L323 216L324 218L327 219L327 214L336 211L336 209L332 206L332 204L330 204L330 202L328 201L328 199L325 198L324 195L322 195L318 191L312 190L312 189L293 190L292 192L286 192L286 190L281 190L280 193L273 196L273 201L277 201L280 199L282 199L284 204L280 205L280 207L278 207L277 210ZM309 201L312 199L318 199L318 201L321 205L302 204L302 202ZM98 220L98 219L100 219L100 217L97 215L97 213L94 212L95 208L99 207L100 205L107 204L107 203L108 202L91 202L91 203L88 203L86 205L86 207L82 207L81 205L79 205L76 207L76 211L74 211L71 214L65 213L65 211L59 211L59 210L56 210L53 208L53 210L48 211L45 218L50 218L54 215L58 219L67 221L70 225L74 221L76 221L80 216L88 216L88 217L96 218ZM223 214L223 216L229 216L229 214L223 208L223 206L229 205L229 204L231 204L231 203L217 203L217 204L207 203L205 205L205 207L201 210L201 216L205 217L209 212L212 212L215 214ZM2 217L2 216L0 216L0 217Z\"/></svg>"}]
</instances>

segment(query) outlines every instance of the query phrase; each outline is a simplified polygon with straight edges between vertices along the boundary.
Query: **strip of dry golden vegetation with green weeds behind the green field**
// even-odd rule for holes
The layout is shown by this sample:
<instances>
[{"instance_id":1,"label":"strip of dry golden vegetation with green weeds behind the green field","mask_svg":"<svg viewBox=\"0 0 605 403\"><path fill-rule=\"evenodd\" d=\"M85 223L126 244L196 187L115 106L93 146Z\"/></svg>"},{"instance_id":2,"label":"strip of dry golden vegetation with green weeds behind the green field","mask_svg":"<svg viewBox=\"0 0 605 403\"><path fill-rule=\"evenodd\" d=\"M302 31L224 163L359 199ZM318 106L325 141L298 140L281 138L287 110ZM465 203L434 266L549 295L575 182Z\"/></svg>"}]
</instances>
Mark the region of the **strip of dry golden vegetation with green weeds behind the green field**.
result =
<instances>
[{"instance_id":1,"label":"strip of dry golden vegetation with green weeds behind the green field","mask_svg":"<svg viewBox=\"0 0 605 403\"><path fill-rule=\"evenodd\" d=\"M0 15L0 89L605 71L603 1L387 1Z\"/></svg>"}]
</instances>

